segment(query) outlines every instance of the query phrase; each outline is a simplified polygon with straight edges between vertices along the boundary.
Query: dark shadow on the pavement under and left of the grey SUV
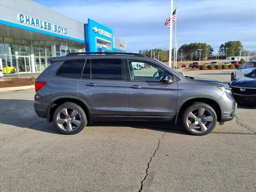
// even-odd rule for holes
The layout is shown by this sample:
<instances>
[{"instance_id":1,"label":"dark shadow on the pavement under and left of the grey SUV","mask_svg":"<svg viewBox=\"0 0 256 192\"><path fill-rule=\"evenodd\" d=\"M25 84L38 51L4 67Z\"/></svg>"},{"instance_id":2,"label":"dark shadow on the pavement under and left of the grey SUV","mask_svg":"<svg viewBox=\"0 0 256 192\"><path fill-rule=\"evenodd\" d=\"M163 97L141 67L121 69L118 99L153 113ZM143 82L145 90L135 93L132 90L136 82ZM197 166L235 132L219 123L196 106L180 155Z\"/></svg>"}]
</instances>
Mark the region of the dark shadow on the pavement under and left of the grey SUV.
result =
<instances>
[{"instance_id":1,"label":"dark shadow on the pavement under and left of the grey SUV","mask_svg":"<svg viewBox=\"0 0 256 192\"><path fill-rule=\"evenodd\" d=\"M0 99L0 123L2 128L29 128L37 131L48 132L52 134L61 134L56 130L54 124L48 123L46 119L36 115L33 106L33 100L15 100ZM183 127L174 122L154 122L154 121L99 121L88 123L87 126L113 126L113 127L131 127L138 129L150 129L162 132L172 132L176 134L186 134Z\"/></svg>"}]
</instances>

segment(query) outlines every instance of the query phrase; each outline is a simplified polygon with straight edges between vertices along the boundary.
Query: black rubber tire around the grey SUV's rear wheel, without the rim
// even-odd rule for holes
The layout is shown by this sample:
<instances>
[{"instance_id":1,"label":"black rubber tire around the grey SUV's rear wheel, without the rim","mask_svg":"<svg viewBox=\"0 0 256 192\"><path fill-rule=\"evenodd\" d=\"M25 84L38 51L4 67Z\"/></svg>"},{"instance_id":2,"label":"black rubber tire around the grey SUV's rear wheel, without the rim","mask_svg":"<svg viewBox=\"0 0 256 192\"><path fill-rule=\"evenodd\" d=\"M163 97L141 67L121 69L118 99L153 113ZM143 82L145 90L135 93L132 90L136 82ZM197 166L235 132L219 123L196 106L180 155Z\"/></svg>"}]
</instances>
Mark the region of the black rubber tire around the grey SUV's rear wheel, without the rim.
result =
<instances>
[{"instance_id":1,"label":"black rubber tire around the grey SUV's rear wheel, without the rim","mask_svg":"<svg viewBox=\"0 0 256 192\"><path fill-rule=\"evenodd\" d=\"M62 128L59 127L58 123L57 123L57 115L58 113L64 109L64 108L72 108L74 110L76 110L78 113L79 113L79 117L80 117L80 126L74 130L74 131L71 131L71 132L68 132L68 131L65 131L63 130ZM54 125L56 127L56 129L63 133L63 134L67 134L67 135L73 135L73 134L77 134L78 132L80 132L86 125L87 125L87 118L86 118L86 114L84 112L84 110L78 106L77 104L75 103L72 103L72 102L66 102L62 105L60 105L55 111L54 111L54 114L53 114L53 122L54 122Z\"/></svg>"}]
</instances>

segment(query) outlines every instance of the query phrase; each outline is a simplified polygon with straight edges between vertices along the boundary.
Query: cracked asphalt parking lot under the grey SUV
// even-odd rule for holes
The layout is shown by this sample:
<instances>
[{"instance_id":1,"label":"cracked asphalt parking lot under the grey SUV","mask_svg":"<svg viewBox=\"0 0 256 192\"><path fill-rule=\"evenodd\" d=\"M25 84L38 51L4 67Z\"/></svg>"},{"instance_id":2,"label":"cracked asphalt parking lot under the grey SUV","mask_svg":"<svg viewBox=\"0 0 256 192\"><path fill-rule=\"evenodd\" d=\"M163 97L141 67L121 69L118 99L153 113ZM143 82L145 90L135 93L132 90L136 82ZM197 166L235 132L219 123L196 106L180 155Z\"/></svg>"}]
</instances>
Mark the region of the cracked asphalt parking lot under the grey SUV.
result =
<instances>
[{"instance_id":1,"label":"cracked asphalt parking lot under the grey SUV","mask_svg":"<svg viewBox=\"0 0 256 192\"><path fill-rule=\"evenodd\" d=\"M255 191L255 106L206 136L171 122L92 122L67 136L36 116L33 96L0 94L1 192Z\"/></svg>"}]
</instances>

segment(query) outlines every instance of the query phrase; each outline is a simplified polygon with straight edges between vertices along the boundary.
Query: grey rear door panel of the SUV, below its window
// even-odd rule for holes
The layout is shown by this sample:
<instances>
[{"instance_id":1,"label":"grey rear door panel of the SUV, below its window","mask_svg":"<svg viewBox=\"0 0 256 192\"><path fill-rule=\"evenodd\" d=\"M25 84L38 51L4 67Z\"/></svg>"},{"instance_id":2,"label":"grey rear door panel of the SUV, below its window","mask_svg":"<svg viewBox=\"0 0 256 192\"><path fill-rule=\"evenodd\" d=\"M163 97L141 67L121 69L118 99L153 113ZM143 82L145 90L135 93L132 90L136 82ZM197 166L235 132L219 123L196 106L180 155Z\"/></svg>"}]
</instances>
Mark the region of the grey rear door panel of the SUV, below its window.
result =
<instances>
[{"instance_id":1,"label":"grey rear door panel of the SUV, below its window","mask_svg":"<svg viewBox=\"0 0 256 192\"><path fill-rule=\"evenodd\" d=\"M84 100L93 116L127 116L125 81L80 79L78 96Z\"/></svg>"}]
</instances>

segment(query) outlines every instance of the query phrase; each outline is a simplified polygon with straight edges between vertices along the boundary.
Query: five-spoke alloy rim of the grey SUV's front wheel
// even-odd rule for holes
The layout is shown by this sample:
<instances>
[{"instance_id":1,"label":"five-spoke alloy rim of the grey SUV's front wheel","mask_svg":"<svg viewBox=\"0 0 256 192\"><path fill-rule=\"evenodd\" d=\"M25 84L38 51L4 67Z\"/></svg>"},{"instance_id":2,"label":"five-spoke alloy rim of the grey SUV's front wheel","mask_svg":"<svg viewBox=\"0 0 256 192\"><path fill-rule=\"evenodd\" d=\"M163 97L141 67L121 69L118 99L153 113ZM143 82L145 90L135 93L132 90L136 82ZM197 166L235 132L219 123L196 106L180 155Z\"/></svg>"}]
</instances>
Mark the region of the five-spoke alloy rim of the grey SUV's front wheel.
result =
<instances>
[{"instance_id":1,"label":"five-spoke alloy rim of the grey SUV's front wheel","mask_svg":"<svg viewBox=\"0 0 256 192\"><path fill-rule=\"evenodd\" d=\"M186 123L193 132L203 133L211 128L213 115L205 108L196 108L188 113Z\"/></svg>"}]
</instances>

